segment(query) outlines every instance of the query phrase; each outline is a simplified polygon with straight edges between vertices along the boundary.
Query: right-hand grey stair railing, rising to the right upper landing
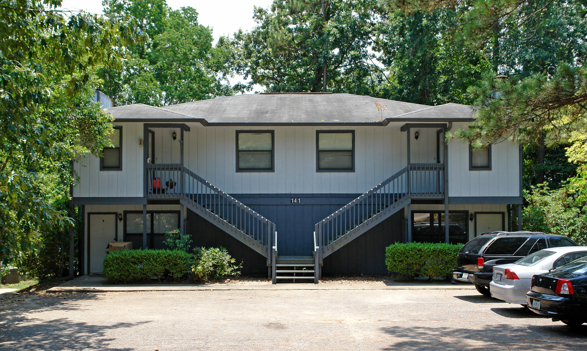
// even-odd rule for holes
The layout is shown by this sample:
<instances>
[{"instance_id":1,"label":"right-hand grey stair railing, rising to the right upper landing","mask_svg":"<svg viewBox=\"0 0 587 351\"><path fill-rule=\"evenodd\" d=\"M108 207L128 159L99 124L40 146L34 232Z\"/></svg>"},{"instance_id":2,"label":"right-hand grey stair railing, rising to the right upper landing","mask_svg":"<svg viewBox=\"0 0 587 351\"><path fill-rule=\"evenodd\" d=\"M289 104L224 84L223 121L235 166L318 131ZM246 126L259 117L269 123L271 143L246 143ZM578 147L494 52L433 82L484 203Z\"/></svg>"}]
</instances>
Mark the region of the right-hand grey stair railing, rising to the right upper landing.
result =
<instances>
[{"instance_id":1,"label":"right-hand grey stair railing, rising to the right upper landing","mask_svg":"<svg viewBox=\"0 0 587 351\"><path fill-rule=\"evenodd\" d=\"M411 197L438 197L444 194L443 163L410 163L382 183L368 190L315 225L320 261L347 234L364 229L367 223L393 214Z\"/></svg>"}]
</instances>

